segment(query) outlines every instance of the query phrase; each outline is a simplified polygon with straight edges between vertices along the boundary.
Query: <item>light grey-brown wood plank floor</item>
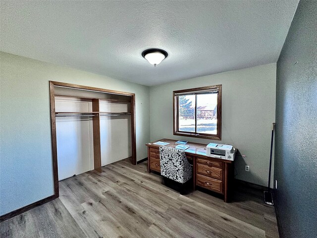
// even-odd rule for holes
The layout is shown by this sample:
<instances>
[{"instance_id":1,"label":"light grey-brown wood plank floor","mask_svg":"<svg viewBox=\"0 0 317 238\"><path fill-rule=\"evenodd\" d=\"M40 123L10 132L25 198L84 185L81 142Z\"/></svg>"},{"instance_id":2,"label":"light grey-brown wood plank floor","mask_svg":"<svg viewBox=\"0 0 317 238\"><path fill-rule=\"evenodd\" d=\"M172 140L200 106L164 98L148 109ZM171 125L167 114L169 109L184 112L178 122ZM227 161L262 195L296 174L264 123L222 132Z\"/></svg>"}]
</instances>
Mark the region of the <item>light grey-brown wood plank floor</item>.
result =
<instances>
[{"instance_id":1,"label":"light grey-brown wood plank floor","mask_svg":"<svg viewBox=\"0 0 317 238\"><path fill-rule=\"evenodd\" d=\"M277 238L261 191L236 187L233 202L161 184L147 163L123 160L59 182L60 196L0 224L1 238Z\"/></svg>"}]
</instances>

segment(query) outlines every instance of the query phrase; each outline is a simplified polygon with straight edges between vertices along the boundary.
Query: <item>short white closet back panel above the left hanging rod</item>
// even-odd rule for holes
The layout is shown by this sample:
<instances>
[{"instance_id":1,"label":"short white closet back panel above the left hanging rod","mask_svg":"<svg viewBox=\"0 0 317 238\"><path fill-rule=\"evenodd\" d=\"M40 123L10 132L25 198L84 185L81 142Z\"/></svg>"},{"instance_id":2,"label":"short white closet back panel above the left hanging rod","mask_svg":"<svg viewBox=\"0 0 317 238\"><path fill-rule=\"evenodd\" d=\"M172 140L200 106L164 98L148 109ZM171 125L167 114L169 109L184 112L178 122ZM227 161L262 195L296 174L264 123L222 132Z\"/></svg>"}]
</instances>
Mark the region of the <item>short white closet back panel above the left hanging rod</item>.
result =
<instances>
[{"instance_id":1,"label":"short white closet back panel above the left hanging rod","mask_svg":"<svg viewBox=\"0 0 317 238\"><path fill-rule=\"evenodd\" d=\"M75 99L55 99L55 112L91 112L91 102L81 102Z\"/></svg>"}]
</instances>

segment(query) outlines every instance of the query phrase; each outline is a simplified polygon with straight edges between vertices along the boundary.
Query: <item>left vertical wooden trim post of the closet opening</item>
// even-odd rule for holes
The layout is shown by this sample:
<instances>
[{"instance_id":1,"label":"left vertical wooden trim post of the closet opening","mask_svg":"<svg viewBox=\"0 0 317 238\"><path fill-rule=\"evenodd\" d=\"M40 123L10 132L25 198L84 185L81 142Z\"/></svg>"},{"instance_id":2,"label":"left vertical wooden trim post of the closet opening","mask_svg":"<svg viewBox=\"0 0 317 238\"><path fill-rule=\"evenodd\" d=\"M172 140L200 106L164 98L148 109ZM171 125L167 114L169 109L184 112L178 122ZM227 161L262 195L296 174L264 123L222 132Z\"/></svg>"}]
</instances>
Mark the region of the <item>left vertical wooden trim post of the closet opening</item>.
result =
<instances>
[{"instance_id":1,"label":"left vertical wooden trim post of the closet opening","mask_svg":"<svg viewBox=\"0 0 317 238\"><path fill-rule=\"evenodd\" d=\"M53 179L54 195L59 196L58 189L58 167L57 167L57 140L56 140L56 118L55 118L55 96L54 84L50 81L50 104L51 104L51 133L52 133L52 157L53 157Z\"/></svg>"}]
</instances>

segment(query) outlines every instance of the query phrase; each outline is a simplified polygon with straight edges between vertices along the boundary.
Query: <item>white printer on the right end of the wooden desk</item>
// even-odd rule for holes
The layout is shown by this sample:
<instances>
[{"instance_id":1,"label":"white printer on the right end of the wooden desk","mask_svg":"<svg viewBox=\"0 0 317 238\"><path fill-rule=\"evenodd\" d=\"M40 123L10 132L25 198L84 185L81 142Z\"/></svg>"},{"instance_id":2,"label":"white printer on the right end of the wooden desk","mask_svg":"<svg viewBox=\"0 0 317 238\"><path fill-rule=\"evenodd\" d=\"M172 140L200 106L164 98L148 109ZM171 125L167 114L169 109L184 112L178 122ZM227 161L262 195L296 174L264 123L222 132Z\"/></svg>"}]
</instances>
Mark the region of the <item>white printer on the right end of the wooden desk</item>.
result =
<instances>
[{"instance_id":1,"label":"white printer on the right end of the wooden desk","mask_svg":"<svg viewBox=\"0 0 317 238\"><path fill-rule=\"evenodd\" d=\"M232 145L222 145L217 143L209 143L207 145L207 156L223 159L234 160L236 150Z\"/></svg>"}]
</instances>

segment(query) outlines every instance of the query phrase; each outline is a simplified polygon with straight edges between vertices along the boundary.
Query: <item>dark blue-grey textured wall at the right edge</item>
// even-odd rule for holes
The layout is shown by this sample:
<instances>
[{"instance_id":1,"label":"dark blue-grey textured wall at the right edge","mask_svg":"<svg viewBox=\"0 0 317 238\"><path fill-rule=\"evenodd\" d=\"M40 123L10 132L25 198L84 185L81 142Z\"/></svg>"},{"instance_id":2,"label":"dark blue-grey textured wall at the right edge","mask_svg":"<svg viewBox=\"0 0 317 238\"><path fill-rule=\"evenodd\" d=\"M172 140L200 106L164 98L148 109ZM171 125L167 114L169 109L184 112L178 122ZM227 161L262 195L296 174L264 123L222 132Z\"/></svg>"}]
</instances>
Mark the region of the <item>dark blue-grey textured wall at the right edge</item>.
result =
<instances>
[{"instance_id":1,"label":"dark blue-grey textured wall at the right edge","mask_svg":"<svg viewBox=\"0 0 317 238\"><path fill-rule=\"evenodd\" d=\"M275 179L282 237L317 237L317 1L301 0L277 62Z\"/></svg>"}]
</instances>

